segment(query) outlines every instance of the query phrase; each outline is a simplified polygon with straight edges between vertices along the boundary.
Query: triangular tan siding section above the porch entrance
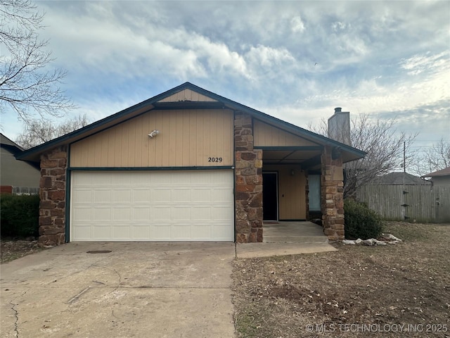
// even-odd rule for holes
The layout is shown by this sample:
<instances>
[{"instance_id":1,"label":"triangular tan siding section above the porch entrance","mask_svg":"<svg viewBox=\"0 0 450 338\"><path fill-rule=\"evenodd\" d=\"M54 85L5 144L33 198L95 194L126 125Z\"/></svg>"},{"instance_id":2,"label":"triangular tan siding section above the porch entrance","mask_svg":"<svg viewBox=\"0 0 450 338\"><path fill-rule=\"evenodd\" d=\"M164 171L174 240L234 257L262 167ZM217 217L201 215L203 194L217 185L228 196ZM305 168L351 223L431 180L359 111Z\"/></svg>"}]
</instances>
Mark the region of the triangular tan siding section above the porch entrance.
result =
<instances>
[{"instance_id":1,"label":"triangular tan siding section above the porch entrance","mask_svg":"<svg viewBox=\"0 0 450 338\"><path fill-rule=\"evenodd\" d=\"M253 124L255 147L257 146L318 146L302 137L255 120Z\"/></svg>"}]
</instances>

